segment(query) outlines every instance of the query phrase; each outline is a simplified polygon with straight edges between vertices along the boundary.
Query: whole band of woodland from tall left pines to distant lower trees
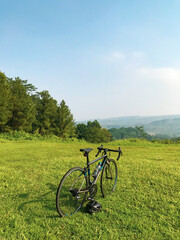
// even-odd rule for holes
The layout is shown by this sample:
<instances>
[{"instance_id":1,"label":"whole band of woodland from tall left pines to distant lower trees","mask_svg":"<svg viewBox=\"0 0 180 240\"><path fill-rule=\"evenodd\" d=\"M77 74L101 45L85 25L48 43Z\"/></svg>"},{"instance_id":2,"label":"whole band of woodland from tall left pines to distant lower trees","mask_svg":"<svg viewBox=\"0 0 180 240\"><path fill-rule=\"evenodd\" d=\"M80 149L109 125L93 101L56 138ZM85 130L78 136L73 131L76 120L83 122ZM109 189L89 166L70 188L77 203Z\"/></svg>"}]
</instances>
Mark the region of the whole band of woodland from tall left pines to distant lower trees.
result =
<instances>
[{"instance_id":1,"label":"whole band of woodland from tall left pines to distant lower trees","mask_svg":"<svg viewBox=\"0 0 180 240\"><path fill-rule=\"evenodd\" d=\"M84 139L92 143L126 138L165 138L160 135L151 136L145 132L143 126L108 130L97 120L77 124L64 100L58 103L47 90L38 92L27 80L8 78L0 72L0 133L14 131L55 135L62 139Z\"/></svg>"}]
</instances>

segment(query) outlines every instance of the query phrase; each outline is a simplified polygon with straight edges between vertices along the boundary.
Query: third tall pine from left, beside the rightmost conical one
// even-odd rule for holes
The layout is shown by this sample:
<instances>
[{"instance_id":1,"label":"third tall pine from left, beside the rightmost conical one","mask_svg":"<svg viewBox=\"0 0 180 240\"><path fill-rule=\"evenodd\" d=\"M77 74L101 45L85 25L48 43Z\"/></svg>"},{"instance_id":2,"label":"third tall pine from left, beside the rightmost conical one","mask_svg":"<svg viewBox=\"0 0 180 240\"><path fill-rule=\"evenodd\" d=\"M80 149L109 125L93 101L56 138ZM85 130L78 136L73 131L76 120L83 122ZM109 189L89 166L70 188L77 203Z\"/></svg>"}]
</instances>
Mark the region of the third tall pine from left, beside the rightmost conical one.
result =
<instances>
[{"instance_id":1,"label":"third tall pine from left, beside the rightmost conical one","mask_svg":"<svg viewBox=\"0 0 180 240\"><path fill-rule=\"evenodd\" d=\"M57 101L53 99L48 91L38 92L33 96L36 105L36 121L33 129L40 134L52 134L56 129Z\"/></svg>"}]
</instances>

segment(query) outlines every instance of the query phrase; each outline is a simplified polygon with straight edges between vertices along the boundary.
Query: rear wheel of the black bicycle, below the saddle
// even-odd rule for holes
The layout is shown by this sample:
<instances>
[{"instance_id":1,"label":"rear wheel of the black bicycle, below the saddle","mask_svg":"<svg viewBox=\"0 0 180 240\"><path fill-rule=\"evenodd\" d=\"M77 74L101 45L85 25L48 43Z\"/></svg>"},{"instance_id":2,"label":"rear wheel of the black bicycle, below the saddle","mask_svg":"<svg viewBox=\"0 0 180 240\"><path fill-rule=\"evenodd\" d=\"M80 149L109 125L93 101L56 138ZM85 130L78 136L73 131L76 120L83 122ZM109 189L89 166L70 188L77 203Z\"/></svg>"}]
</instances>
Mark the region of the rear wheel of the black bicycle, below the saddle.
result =
<instances>
[{"instance_id":1,"label":"rear wheel of the black bicycle, below the saddle","mask_svg":"<svg viewBox=\"0 0 180 240\"><path fill-rule=\"evenodd\" d=\"M83 205L87 195L87 177L81 167L71 168L62 178L56 208L61 217L72 215Z\"/></svg>"}]
</instances>

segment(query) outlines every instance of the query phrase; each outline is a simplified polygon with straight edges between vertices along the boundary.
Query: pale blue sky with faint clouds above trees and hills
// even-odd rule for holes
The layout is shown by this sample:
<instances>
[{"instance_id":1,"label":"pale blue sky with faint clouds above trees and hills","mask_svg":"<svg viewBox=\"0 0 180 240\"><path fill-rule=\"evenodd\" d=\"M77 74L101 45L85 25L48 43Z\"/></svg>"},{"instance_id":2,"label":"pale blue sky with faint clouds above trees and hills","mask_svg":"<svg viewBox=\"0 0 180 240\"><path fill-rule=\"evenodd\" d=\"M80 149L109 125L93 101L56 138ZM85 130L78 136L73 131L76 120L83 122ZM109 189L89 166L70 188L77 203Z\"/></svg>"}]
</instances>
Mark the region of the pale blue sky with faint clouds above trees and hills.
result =
<instances>
[{"instance_id":1,"label":"pale blue sky with faint clouds above trees and hills","mask_svg":"<svg viewBox=\"0 0 180 240\"><path fill-rule=\"evenodd\" d=\"M179 0L0 0L0 71L76 121L180 114L179 12Z\"/></svg>"}]
</instances>

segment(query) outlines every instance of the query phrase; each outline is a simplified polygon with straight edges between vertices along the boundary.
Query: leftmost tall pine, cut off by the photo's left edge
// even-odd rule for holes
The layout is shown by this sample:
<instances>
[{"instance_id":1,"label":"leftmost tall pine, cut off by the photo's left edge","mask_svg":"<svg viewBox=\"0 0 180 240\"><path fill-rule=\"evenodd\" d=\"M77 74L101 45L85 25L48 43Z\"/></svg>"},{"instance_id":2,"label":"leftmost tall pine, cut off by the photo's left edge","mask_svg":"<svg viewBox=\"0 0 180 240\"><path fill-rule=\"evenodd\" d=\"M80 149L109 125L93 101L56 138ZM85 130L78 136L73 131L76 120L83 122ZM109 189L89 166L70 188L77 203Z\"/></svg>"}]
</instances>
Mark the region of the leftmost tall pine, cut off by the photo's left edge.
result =
<instances>
[{"instance_id":1,"label":"leftmost tall pine, cut off by the photo's left edge","mask_svg":"<svg viewBox=\"0 0 180 240\"><path fill-rule=\"evenodd\" d=\"M0 132L11 117L10 87L4 73L0 72Z\"/></svg>"}]
</instances>

